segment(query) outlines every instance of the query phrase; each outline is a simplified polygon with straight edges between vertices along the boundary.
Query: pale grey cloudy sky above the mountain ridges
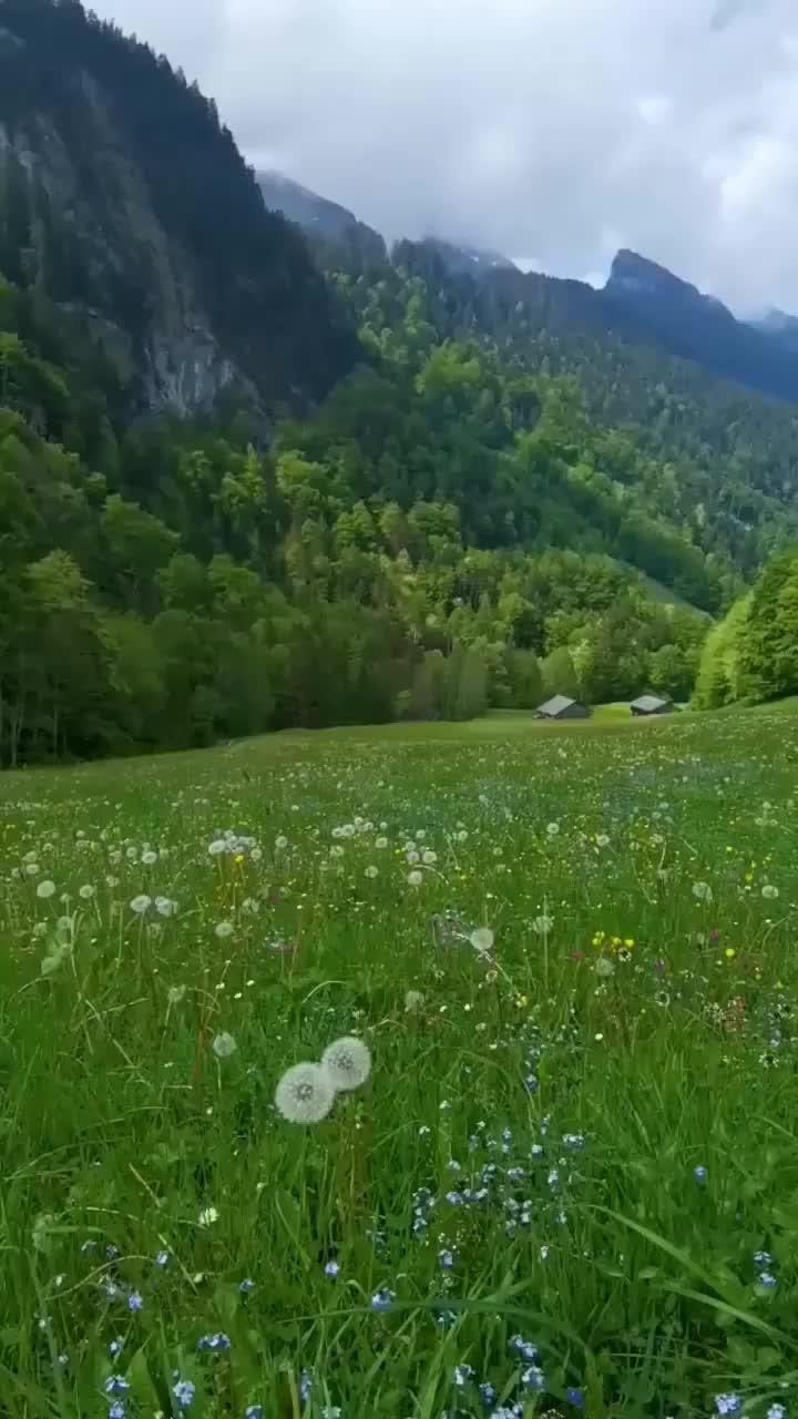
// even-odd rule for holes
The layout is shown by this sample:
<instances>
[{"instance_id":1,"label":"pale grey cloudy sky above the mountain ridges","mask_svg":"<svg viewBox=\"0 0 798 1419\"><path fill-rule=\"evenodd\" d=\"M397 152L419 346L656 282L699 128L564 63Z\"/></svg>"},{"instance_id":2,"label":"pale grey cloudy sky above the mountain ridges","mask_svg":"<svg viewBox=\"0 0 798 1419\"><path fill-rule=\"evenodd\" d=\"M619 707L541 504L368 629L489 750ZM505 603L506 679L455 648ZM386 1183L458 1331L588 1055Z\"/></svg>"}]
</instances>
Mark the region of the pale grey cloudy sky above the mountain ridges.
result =
<instances>
[{"instance_id":1,"label":"pale grey cloudy sky above the mountain ridges","mask_svg":"<svg viewBox=\"0 0 798 1419\"><path fill-rule=\"evenodd\" d=\"M92 0L388 237L798 312L797 0Z\"/></svg>"}]
</instances>

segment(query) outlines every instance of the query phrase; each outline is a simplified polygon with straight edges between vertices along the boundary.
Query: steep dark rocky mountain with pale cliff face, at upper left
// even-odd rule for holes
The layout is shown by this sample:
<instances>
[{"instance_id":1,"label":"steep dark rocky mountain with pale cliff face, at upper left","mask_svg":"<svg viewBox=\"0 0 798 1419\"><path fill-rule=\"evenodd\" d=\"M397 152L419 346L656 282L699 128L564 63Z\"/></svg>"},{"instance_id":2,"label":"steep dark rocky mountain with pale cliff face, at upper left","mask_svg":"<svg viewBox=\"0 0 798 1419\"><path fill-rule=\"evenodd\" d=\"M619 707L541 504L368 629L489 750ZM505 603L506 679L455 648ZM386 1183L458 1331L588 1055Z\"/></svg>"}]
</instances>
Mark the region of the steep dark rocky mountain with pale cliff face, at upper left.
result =
<instances>
[{"instance_id":1,"label":"steep dark rocky mountain with pale cliff face, at upper left","mask_svg":"<svg viewBox=\"0 0 798 1419\"><path fill-rule=\"evenodd\" d=\"M129 409L312 400L358 353L214 104L77 0L0 0L0 272L101 343Z\"/></svg>"}]
</instances>

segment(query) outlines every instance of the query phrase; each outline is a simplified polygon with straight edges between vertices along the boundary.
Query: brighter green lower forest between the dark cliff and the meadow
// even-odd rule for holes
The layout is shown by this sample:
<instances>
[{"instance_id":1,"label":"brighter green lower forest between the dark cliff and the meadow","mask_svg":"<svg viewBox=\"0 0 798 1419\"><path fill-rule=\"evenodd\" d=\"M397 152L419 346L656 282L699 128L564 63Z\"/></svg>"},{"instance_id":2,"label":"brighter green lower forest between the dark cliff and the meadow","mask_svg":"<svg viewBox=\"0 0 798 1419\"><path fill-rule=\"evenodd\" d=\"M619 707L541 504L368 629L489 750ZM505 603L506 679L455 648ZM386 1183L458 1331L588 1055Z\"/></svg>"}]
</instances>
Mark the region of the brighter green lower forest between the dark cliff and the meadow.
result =
<instances>
[{"instance_id":1,"label":"brighter green lower forest between the dark cliff and the meadow","mask_svg":"<svg viewBox=\"0 0 798 1419\"><path fill-rule=\"evenodd\" d=\"M0 288L6 765L690 692L731 566L601 473L569 385L439 342L408 280L372 363L268 443L244 409L115 430Z\"/></svg>"}]
</instances>

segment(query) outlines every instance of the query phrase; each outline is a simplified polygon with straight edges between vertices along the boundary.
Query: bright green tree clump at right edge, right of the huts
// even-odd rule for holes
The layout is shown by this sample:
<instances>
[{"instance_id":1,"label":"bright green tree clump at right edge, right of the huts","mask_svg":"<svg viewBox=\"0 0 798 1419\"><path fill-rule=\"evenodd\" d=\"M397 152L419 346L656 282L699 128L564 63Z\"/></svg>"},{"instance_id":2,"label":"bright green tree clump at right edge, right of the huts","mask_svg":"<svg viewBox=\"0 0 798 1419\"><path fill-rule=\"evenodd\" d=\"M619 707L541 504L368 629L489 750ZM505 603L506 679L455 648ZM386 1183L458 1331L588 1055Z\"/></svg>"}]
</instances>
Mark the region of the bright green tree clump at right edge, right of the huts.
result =
<instances>
[{"instance_id":1,"label":"bright green tree clump at right edge, right of the huts","mask_svg":"<svg viewBox=\"0 0 798 1419\"><path fill-rule=\"evenodd\" d=\"M798 695L798 548L774 556L707 637L696 704Z\"/></svg>"}]
</instances>

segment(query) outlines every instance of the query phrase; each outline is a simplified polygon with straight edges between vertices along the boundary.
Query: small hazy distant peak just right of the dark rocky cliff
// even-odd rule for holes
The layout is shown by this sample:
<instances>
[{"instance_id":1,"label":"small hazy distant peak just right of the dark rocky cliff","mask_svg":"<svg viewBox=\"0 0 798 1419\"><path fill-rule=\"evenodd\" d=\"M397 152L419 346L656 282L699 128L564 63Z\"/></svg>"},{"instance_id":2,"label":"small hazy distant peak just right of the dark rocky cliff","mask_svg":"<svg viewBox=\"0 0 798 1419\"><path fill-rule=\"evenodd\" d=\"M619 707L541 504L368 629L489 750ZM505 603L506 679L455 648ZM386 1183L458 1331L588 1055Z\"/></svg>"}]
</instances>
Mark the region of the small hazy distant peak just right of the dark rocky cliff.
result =
<instances>
[{"instance_id":1,"label":"small hazy distant peak just right of the dark rocky cliff","mask_svg":"<svg viewBox=\"0 0 798 1419\"><path fill-rule=\"evenodd\" d=\"M311 247L329 261L337 258L346 268L369 270L388 260L385 241L378 231L359 221L337 201L319 197L278 172L258 172L257 182L270 211L281 211L308 237Z\"/></svg>"}]
</instances>

